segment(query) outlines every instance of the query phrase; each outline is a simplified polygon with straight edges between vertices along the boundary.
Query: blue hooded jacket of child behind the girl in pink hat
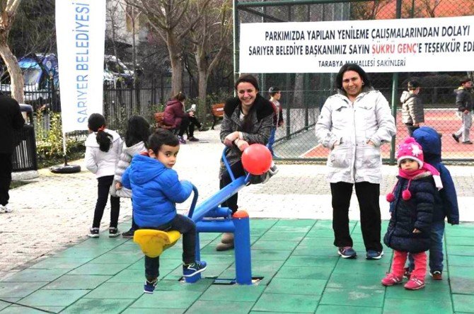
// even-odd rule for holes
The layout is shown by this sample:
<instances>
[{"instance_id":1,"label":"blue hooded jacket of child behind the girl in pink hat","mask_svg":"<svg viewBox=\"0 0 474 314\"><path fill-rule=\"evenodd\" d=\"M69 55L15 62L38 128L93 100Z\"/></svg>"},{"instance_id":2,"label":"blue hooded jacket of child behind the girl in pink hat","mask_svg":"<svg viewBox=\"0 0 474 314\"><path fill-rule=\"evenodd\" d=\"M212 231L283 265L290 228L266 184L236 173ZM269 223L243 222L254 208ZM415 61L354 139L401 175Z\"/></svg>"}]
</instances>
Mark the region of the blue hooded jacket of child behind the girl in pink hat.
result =
<instances>
[{"instance_id":1,"label":"blue hooded jacket of child behind the girl in pink hat","mask_svg":"<svg viewBox=\"0 0 474 314\"><path fill-rule=\"evenodd\" d=\"M422 146L424 161L437 168L443 188L434 194L433 221L443 221L448 217L448 222L459 224L458 197L453 178L449 170L441 163L441 138L435 129L420 127L413 132L413 137Z\"/></svg>"}]
</instances>

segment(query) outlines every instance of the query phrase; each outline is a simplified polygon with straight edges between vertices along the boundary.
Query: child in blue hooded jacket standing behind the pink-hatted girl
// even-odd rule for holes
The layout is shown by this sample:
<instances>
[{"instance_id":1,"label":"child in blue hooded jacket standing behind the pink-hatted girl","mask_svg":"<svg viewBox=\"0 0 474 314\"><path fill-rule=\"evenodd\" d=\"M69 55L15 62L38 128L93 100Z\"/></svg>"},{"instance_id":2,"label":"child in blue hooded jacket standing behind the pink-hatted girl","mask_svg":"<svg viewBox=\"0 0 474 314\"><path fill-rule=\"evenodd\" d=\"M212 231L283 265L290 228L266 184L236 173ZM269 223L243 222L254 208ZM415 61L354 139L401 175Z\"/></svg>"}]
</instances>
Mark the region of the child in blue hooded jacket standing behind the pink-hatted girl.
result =
<instances>
[{"instance_id":1,"label":"child in blue hooded jacket standing behind the pink-hatted girl","mask_svg":"<svg viewBox=\"0 0 474 314\"><path fill-rule=\"evenodd\" d=\"M435 280L443 279L443 234L444 219L448 218L451 225L459 224L458 198L453 178L449 170L441 162L441 136L431 127L420 127L412 135L422 146L424 161L439 171L443 188L434 194L433 223L431 231L431 245L429 246L429 274ZM410 267L407 273L414 268L410 258Z\"/></svg>"}]
</instances>

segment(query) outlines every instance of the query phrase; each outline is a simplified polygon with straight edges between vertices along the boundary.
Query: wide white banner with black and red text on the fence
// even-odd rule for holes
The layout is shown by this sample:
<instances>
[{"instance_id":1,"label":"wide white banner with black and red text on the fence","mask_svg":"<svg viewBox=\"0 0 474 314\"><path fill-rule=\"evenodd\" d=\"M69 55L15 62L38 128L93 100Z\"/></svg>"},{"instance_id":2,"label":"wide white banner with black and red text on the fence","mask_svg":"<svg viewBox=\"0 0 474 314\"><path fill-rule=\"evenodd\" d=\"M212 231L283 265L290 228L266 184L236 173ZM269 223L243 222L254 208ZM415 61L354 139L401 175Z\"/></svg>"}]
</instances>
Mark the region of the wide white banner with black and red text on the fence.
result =
<instances>
[{"instance_id":1,"label":"wide white banner with black and red text on the fence","mask_svg":"<svg viewBox=\"0 0 474 314\"><path fill-rule=\"evenodd\" d=\"M472 71L474 16L242 23L239 54L241 73Z\"/></svg>"}]
</instances>

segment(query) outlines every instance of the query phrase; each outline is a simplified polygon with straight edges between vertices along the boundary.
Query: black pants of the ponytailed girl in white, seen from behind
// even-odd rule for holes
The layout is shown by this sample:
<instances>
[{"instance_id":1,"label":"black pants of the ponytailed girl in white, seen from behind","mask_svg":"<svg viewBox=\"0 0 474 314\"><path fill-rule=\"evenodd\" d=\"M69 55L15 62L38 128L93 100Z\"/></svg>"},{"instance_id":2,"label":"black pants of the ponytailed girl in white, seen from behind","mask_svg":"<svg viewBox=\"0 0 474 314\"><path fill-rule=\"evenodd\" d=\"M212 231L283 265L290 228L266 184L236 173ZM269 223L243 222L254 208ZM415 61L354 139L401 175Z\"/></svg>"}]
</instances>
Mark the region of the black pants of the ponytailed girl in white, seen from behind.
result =
<instances>
[{"instance_id":1,"label":"black pants of the ponytailed girl in white, seen from behind","mask_svg":"<svg viewBox=\"0 0 474 314\"><path fill-rule=\"evenodd\" d=\"M105 205L109 196L110 185L114 180L113 175L97 178L97 202L94 211L92 228L99 228L104 214ZM120 214L120 197L110 195L110 227L117 228L118 216Z\"/></svg>"}]
</instances>

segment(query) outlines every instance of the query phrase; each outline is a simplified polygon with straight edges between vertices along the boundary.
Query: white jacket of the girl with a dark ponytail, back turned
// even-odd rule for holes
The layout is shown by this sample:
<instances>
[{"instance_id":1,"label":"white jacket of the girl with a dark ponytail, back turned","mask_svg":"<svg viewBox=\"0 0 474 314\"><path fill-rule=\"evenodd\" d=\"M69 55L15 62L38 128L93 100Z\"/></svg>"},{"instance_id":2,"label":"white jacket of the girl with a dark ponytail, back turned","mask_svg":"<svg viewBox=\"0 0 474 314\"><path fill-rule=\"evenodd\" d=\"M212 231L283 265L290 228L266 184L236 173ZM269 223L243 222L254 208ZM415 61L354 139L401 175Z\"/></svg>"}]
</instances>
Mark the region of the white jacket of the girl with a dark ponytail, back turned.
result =
<instances>
[{"instance_id":1,"label":"white jacket of the girl with a dark ponytail, back turned","mask_svg":"<svg viewBox=\"0 0 474 314\"><path fill-rule=\"evenodd\" d=\"M97 132L89 134L86 139L86 168L95 173L96 178L115 175L115 165L122 151L120 135L110 129L105 129L104 132L112 135L112 145L108 151L100 151Z\"/></svg>"}]
</instances>

